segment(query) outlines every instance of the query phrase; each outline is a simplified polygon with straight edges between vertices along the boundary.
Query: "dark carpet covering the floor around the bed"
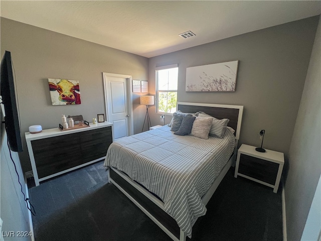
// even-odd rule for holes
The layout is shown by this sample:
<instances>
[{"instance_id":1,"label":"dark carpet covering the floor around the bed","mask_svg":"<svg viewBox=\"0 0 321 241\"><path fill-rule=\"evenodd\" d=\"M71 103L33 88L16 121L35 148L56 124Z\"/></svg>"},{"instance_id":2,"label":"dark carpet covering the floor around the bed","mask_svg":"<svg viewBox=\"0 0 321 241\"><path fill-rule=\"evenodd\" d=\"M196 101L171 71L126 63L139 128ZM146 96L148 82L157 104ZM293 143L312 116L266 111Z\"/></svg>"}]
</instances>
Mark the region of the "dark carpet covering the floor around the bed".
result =
<instances>
[{"instance_id":1,"label":"dark carpet covering the floor around the bed","mask_svg":"<svg viewBox=\"0 0 321 241\"><path fill-rule=\"evenodd\" d=\"M117 187L103 162L32 187L36 241L172 240ZM187 240L282 240L281 190L234 178L231 168Z\"/></svg>"}]
</instances>

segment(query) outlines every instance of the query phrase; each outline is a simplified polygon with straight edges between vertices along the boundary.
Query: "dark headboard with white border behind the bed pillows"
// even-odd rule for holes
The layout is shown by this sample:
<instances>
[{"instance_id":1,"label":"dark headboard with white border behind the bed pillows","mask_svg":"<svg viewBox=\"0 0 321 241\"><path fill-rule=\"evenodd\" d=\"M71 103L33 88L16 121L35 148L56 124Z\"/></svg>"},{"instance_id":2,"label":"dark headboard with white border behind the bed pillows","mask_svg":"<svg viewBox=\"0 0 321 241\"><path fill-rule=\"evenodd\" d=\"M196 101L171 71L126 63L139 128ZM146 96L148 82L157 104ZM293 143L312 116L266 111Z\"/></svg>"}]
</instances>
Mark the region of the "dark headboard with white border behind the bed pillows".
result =
<instances>
[{"instance_id":1,"label":"dark headboard with white border behind the bed pillows","mask_svg":"<svg viewBox=\"0 0 321 241\"><path fill-rule=\"evenodd\" d=\"M228 118L228 126L235 130L235 138L240 138L243 105L177 102L177 109L185 113L203 111L218 119Z\"/></svg>"}]
</instances>

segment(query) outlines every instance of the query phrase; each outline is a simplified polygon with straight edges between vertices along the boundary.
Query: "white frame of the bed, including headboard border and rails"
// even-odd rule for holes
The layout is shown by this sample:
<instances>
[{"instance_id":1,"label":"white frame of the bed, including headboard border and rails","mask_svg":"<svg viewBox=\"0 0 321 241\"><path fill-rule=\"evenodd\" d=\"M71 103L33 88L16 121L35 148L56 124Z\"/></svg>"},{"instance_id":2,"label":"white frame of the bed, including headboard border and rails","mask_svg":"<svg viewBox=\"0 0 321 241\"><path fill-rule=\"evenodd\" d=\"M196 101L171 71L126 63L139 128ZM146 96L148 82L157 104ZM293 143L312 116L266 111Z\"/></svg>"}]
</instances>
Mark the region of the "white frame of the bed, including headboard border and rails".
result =
<instances>
[{"instance_id":1,"label":"white frame of the bed, including headboard border and rails","mask_svg":"<svg viewBox=\"0 0 321 241\"><path fill-rule=\"evenodd\" d=\"M206 205L208 201L211 199L212 195L214 194L215 190L225 177L226 173L230 169L231 165L236 160L236 150L237 150L237 143L240 137L240 129L241 129L241 122L242 122L242 114L243 114L243 106L242 105L224 105L224 104L206 104L206 103L189 103L189 102L178 102L179 105L190 105L190 106L207 106L207 107L219 107L219 108L231 108L231 109L238 109L238 119L237 119L237 129L235 132L235 151L231 158L229 159L228 163L225 165L219 176L215 179L212 186L209 188L207 193L202 197L203 203ZM139 184L134 182L131 178L129 178L127 175L125 175L123 172L118 171L115 168L111 168L114 172L116 172L121 178L123 178L126 182L128 182L132 187L134 187L137 191L142 193L145 197L147 197L149 200L151 200L155 205L157 205L159 208L163 209L164 212L164 203L156 198L154 195L152 195L150 192L148 192L146 189L141 187ZM110 169L108 169L108 172ZM122 191L137 207L139 207L152 221L154 221L159 227L163 229L173 240L175 241L185 241L186 240L186 234L180 230L180 238L178 239L175 234L173 234L167 227L165 227L160 221L158 221L147 209L145 209L138 201L136 201L135 198L133 198L130 194L126 192L115 180L113 180L110 177L109 174L109 182L113 183L120 191ZM197 220L197 219L196 219ZM194 221L193 225L195 224L196 220Z\"/></svg>"}]
</instances>

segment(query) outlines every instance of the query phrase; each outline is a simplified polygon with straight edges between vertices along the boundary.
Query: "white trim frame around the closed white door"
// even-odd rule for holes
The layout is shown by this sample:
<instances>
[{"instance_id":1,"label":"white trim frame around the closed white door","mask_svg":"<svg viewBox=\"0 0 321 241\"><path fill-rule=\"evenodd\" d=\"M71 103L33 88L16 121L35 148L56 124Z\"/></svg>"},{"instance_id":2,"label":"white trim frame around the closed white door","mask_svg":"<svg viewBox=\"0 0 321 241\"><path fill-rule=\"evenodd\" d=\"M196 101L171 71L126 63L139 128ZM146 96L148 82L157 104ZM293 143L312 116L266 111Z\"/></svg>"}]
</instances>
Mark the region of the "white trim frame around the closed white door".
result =
<instances>
[{"instance_id":1,"label":"white trim frame around the closed white door","mask_svg":"<svg viewBox=\"0 0 321 241\"><path fill-rule=\"evenodd\" d=\"M108 116L108 106L107 106L107 80L106 77L118 77L118 78L125 78L126 79L126 94L127 94L127 106L129 111L128 116L128 135L131 136L134 133L134 124L133 124L133 110L132 110L132 81L131 81L131 75L125 75L125 74L114 74L114 73L102 73L103 75L103 82L104 82L104 97L105 97L105 112L106 112L106 119L107 122L109 122L109 116Z\"/></svg>"}]
</instances>

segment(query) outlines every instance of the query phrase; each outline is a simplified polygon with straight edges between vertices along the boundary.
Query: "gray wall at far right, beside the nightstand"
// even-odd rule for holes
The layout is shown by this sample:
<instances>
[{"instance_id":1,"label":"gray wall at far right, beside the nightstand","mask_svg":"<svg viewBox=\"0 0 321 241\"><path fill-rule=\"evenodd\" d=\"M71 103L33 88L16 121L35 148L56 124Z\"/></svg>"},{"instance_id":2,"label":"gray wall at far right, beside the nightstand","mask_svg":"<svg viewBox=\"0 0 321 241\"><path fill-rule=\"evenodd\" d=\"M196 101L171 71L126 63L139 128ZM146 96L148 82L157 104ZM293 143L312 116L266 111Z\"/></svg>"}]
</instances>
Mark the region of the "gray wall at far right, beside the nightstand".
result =
<instances>
[{"instance_id":1,"label":"gray wall at far right, beside the nightstand","mask_svg":"<svg viewBox=\"0 0 321 241\"><path fill-rule=\"evenodd\" d=\"M300 240L321 173L321 20L312 49L289 150L285 182L287 239ZM320 215L318 203L318 215ZM320 216L318 217L320 218ZM317 234L320 231L320 219ZM317 235L316 234L316 235ZM304 239L303 239L304 240ZM312 239L305 239L312 240ZM313 239L316 240L316 239Z\"/></svg>"}]
</instances>

